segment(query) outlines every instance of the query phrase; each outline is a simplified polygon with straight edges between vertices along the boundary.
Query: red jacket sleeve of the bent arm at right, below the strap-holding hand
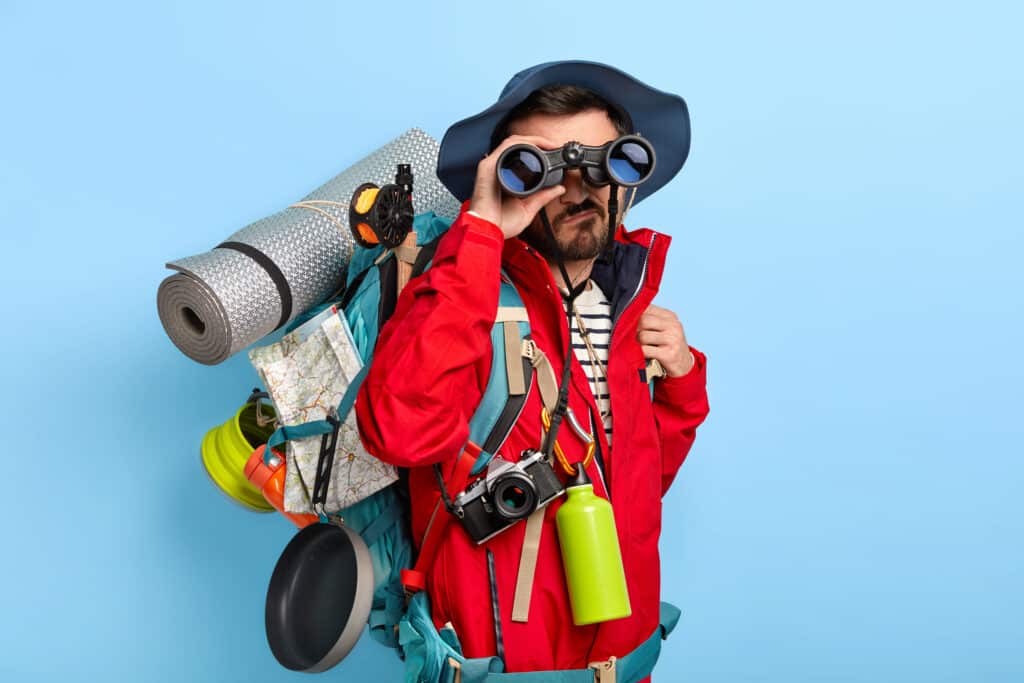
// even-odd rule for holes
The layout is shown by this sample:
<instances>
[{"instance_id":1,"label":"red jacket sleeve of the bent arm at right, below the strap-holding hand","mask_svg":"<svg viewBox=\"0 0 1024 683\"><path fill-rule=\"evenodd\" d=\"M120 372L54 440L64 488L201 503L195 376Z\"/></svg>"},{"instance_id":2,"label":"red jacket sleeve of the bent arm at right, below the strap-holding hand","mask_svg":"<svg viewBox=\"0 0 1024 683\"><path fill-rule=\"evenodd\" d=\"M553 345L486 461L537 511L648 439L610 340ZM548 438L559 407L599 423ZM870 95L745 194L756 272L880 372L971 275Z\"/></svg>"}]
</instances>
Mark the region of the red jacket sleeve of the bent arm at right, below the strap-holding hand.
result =
<instances>
[{"instance_id":1,"label":"red jacket sleeve of the bent arm at right, below the strap-holding hand","mask_svg":"<svg viewBox=\"0 0 1024 683\"><path fill-rule=\"evenodd\" d=\"M694 365L682 377L654 380L654 420L662 437L662 495L693 445L697 426L708 417L707 357L692 346Z\"/></svg>"}]
</instances>

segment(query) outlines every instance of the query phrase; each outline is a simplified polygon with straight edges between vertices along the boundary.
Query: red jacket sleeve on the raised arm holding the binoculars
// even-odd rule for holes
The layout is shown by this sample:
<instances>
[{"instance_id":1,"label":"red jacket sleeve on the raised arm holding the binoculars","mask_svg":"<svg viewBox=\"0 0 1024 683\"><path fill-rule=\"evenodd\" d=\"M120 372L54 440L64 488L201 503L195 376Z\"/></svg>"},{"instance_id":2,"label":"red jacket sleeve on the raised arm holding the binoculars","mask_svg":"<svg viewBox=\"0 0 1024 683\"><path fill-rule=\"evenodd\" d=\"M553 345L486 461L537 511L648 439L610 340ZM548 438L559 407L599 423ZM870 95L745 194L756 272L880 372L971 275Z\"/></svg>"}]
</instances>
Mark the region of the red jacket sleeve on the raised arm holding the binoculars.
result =
<instances>
[{"instance_id":1,"label":"red jacket sleeve on the raised arm holding the binoculars","mask_svg":"<svg viewBox=\"0 0 1024 683\"><path fill-rule=\"evenodd\" d=\"M375 457L416 467L465 445L490 372L504 244L497 225L464 206L431 267L398 297L355 401Z\"/></svg>"}]
</instances>

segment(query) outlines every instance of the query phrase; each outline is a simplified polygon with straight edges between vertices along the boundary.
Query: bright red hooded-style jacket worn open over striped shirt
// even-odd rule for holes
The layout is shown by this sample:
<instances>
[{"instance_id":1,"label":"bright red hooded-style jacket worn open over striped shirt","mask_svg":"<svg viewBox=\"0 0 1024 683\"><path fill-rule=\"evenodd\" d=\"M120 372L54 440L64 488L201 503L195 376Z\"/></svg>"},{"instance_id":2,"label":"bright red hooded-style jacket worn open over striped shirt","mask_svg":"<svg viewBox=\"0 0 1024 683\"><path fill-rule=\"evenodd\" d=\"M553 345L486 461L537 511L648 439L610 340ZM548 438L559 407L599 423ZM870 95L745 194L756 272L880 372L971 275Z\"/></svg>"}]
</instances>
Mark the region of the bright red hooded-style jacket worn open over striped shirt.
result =
<instances>
[{"instance_id":1,"label":"bright red hooded-style jacket worn open over striped shirt","mask_svg":"<svg viewBox=\"0 0 1024 683\"><path fill-rule=\"evenodd\" d=\"M614 509L632 616L600 625L572 625L554 514L547 508L528 622L511 621L524 523L482 546L462 525L447 525L427 577L435 625L451 622L469 657L495 654L485 548L495 555L499 604L510 672L583 669L588 663L623 656L656 628L659 602L657 540L662 496L693 443L708 414L705 356L693 350L695 368L686 376L655 381L654 398L641 378L645 360L636 340L640 314L654 298L670 239L647 229L620 227L613 264L598 262L592 278L612 303L613 331L607 367L613 450L596 424L605 468L596 461L588 474L599 496ZM466 443L468 423L486 385L490 329L498 308L500 269L519 290L531 334L561 377L568 344L566 317L544 258L520 240L505 241L493 223L465 212L441 239L431 268L410 283L384 326L374 362L356 400L367 450L411 468L413 536L419 542L438 499L434 463L451 467ZM516 460L539 449L542 402L536 382L522 414L501 449ZM581 422L597 416L583 369L572 358L569 405ZM583 442L564 425L559 443L570 462L583 460ZM445 470L446 471L446 470ZM606 484L610 482L610 486ZM443 513L443 508L441 509Z\"/></svg>"}]
</instances>

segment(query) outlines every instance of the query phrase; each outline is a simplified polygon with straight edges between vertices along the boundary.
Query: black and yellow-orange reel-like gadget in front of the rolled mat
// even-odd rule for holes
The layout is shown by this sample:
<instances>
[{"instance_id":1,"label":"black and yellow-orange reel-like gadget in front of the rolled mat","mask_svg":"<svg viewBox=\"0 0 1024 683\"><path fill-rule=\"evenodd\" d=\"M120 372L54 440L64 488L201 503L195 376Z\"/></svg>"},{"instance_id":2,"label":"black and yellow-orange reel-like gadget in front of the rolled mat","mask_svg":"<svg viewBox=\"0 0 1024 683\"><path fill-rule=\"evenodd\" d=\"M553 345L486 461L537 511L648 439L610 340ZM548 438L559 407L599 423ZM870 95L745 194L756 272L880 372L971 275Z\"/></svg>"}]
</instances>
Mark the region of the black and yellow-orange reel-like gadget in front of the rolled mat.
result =
<instances>
[{"instance_id":1,"label":"black and yellow-orange reel-like gadget in front of the rolled mat","mask_svg":"<svg viewBox=\"0 0 1024 683\"><path fill-rule=\"evenodd\" d=\"M355 188L348 208L348 226L362 247L392 248L413 229L413 169L409 164L398 164L393 184L378 187L365 182Z\"/></svg>"}]
</instances>

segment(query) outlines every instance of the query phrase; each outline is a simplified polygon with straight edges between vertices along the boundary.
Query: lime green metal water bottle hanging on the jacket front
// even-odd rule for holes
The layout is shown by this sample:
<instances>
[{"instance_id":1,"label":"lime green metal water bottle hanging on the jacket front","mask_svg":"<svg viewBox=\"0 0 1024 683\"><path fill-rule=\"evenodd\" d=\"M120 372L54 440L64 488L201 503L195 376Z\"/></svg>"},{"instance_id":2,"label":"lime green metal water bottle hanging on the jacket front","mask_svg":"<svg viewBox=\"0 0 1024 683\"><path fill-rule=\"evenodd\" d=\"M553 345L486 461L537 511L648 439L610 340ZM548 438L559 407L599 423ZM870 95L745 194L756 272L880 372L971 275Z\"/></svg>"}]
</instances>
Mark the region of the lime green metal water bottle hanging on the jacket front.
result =
<instances>
[{"instance_id":1,"label":"lime green metal water bottle hanging on the jacket front","mask_svg":"<svg viewBox=\"0 0 1024 683\"><path fill-rule=\"evenodd\" d=\"M611 504L594 495L582 465L565 488L555 515L562 565L577 626L610 622L633 613Z\"/></svg>"}]
</instances>

